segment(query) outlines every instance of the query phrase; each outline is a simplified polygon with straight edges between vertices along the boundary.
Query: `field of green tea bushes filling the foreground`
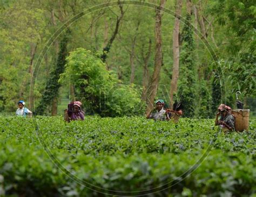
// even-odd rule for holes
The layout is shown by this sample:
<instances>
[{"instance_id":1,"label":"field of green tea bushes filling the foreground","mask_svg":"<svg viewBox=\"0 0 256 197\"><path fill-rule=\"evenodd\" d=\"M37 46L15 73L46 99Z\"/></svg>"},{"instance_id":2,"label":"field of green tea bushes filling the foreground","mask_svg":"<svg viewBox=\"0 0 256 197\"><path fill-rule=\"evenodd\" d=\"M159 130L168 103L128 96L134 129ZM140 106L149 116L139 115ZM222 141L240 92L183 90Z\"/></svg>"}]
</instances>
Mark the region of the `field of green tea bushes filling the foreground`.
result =
<instances>
[{"instance_id":1,"label":"field of green tea bushes filling the foreground","mask_svg":"<svg viewBox=\"0 0 256 197\"><path fill-rule=\"evenodd\" d=\"M0 196L255 196L256 120L0 117Z\"/></svg>"}]
</instances>

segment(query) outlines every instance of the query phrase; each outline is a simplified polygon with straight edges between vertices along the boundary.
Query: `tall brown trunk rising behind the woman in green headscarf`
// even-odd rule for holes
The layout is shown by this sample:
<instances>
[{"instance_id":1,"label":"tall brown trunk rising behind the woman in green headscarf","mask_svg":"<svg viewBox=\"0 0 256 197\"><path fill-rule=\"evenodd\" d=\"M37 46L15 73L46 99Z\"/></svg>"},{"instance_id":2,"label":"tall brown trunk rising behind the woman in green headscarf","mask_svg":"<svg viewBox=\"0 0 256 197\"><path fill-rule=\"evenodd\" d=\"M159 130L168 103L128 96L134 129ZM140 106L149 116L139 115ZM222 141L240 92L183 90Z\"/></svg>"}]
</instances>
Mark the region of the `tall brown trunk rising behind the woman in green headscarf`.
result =
<instances>
[{"instance_id":1,"label":"tall brown trunk rising behind the woman in green headscarf","mask_svg":"<svg viewBox=\"0 0 256 197\"><path fill-rule=\"evenodd\" d=\"M162 61L162 51L161 51L161 17L163 16L163 13L161 13L161 10L163 10L165 5L165 0L160 1L160 6L158 9L156 9L156 26L154 31L154 39L156 42L156 55L154 58L154 71L152 75L152 83L150 86L150 92L149 92L149 102L147 103L147 109L146 112L149 113L152 108L154 107L154 99L157 95L158 90L158 84L160 79L160 71L161 71L161 65L163 63Z\"/></svg>"}]
</instances>

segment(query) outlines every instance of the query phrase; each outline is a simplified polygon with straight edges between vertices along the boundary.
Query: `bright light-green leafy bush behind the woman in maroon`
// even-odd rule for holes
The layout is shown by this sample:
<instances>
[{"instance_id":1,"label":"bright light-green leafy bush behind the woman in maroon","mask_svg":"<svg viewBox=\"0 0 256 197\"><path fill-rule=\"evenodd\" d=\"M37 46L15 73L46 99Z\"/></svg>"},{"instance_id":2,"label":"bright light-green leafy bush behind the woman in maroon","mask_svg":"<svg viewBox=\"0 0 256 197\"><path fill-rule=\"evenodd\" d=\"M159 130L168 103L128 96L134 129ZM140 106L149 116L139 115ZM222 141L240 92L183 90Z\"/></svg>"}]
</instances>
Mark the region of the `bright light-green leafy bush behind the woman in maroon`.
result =
<instances>
[{"instance_id":1,"label":"bright light-green leafy bush behind the woman in maroon","mask_svg":"<svg viewBox=\"0 0 256 197\"><path fill-rule=\"evenodd\" d=\"M119 84L98 56L98 52L93 54L83 48L71 52L60 82L75 86L76 99L82 101L88 113L110 117L142 113L139 91Z\"/></svg>"}]
</instances>

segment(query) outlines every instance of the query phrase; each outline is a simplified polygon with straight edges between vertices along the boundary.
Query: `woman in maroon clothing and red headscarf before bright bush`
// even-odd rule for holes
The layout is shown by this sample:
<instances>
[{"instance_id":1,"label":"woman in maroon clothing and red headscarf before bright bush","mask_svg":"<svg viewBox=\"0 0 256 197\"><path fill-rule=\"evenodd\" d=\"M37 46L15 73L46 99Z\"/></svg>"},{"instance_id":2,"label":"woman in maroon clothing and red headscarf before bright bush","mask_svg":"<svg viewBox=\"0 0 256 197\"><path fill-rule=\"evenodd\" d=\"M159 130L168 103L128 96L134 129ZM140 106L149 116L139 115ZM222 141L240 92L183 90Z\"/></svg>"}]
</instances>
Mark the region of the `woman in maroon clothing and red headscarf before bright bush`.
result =
<instances>
[{"instance_id":1,"label":"woman in maroon clothing and red headscarf before bright bush","mask_svg":"<svg viewBox=\"0 0 256 197\"><path fill-rule=\"evenodd\" d=\"M84 120L84 112L81 109L80 101L71 102L68 105L68 116L70 120Z\"/></svg>"}]
</instances>

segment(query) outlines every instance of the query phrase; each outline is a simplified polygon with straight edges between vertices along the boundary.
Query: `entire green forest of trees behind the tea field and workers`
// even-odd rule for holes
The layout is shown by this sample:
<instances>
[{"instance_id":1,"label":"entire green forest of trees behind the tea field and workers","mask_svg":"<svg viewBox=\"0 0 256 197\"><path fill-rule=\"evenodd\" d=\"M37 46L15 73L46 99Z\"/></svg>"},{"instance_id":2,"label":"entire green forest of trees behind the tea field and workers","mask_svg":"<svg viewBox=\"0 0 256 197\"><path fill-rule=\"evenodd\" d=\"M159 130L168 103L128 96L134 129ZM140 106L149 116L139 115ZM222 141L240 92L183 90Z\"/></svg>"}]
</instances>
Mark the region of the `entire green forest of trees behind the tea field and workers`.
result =
<instances>
[{"instance_id":1,"label":"entire green forest of trees behind the tea field and workers","mask_svg":"<svg viewBox=\"0 0 256 197\"><path fill-rule=\"evenodd\" d=\"M183 95L185 117L212 118L220 103L236 108L240 91L255 116L255 5L1 1L0 112L22 99L36 114L63 114L81 100L87 114L133 116Z\"/></svg>"}]
</instances>

